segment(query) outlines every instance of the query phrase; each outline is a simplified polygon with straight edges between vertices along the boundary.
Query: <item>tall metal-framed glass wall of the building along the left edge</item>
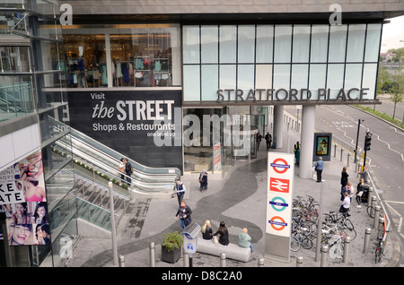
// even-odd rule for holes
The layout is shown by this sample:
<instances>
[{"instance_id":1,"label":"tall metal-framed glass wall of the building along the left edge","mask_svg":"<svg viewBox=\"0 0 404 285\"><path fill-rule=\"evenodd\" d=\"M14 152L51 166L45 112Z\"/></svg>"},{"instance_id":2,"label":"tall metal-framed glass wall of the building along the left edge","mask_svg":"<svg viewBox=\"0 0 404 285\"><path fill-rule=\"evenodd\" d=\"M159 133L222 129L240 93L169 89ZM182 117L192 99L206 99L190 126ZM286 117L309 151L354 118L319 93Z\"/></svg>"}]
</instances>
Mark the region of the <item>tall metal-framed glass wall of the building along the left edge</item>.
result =
<instances>
[{"instance_id":1,"label":"tall metal-framed glass wall of the building along the left edge","mask_svg":"<svg viewBox=\"0 0 404 285\"><path fill-rule=\"evenodd\" d=\"M58 266L67 257L61 239L77 237L65 52L55 11L58 1L7 1L0 8L0 122L38 115L51 237L50 245L10 246L12 256L26 256L12 257L15 267ZM54 151L57 144L66 151Z\"/></svg>"}]
</instances>

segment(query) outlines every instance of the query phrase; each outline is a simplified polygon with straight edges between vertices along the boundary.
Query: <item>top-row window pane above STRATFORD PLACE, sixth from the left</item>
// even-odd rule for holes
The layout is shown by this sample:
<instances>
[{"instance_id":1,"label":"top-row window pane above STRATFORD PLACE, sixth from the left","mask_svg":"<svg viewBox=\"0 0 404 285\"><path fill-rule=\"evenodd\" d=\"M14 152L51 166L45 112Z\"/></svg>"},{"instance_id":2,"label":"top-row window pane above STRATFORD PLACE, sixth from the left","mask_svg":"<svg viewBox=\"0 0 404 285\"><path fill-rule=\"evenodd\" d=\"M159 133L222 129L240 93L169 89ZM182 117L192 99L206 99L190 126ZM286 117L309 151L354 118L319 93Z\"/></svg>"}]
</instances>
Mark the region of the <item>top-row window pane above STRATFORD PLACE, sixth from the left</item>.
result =
<instances>
[{"instance_id":1,"label":"top-row window pane above STRATFORD PLACE, sixth from the left","mask_svg":"<svg viewBox=\"0 0 404 285\"><path fill-rule=\"evenodd\" d=\"M275 26L275 58L276 63L290 63L292 45L292 26Z\"/></svg>"}]
</instances>

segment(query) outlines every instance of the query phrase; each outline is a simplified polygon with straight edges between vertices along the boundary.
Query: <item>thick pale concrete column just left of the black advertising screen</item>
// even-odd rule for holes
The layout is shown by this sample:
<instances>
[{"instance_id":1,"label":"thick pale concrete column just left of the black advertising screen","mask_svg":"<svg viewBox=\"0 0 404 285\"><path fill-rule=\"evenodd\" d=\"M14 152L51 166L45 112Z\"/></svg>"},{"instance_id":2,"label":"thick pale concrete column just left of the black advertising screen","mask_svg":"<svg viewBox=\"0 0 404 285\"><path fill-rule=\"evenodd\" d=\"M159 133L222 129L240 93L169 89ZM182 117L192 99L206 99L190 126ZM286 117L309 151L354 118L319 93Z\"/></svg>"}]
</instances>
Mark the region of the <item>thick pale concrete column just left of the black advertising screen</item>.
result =
<instances>
[{"instance_id":1,"label":"thick pale concrete column just left of the black advertising screen","mask_svg":"<svg viewBox=\"0 0 404 285\"><path fill-rule=\"evenodd\" d=\"M299 177L305 179L312 178L312 143L314 139L315 119L316 107L303 106Z\"/></svg>"}]
</instances>

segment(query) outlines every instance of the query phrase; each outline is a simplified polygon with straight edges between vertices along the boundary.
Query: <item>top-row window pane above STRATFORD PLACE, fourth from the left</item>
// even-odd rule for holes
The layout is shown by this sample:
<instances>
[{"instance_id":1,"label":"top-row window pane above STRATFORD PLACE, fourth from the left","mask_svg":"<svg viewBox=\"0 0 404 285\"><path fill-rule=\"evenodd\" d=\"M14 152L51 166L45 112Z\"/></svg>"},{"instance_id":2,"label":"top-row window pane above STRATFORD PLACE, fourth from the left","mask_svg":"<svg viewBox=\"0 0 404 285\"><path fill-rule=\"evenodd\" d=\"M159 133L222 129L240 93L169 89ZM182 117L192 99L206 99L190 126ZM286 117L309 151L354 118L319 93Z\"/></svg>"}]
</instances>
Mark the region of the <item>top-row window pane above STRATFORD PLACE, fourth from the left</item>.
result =
<instances>
[{"instance_id":1,"label":"top-row window pane above STRATFORD PLACE, fourth from the left","mask_svg":"<svg viewBox=\"0 0 404 285\"><path fill-rule=\"evenodd\" d=\"M254 63L255 26L239 26L238 28L238 62Z\"/></svg>"}]
</instances>

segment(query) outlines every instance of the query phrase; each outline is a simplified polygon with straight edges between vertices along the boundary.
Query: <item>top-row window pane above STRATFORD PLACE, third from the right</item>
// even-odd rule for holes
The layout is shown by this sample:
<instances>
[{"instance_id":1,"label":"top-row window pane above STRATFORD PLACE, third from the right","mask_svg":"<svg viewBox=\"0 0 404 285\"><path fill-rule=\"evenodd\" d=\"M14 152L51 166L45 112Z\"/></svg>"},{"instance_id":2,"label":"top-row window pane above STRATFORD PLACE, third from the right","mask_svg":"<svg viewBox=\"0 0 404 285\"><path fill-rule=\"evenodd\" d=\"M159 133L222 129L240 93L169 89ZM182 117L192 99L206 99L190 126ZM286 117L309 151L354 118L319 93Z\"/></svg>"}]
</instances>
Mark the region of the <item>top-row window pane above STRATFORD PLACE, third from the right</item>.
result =
<instances>
[{"instance_id":1,"label":"top-row window pane above STRATFORD PLACE, third from the right","mask_svg":"<svg viewBox=\"0 0 404 285\"><path fill-rule=\"evenodd\" d=\"M345 62L347 26L330 26L329 32L329 63Z\"/></svg>"}]
</instances>

